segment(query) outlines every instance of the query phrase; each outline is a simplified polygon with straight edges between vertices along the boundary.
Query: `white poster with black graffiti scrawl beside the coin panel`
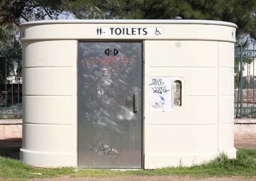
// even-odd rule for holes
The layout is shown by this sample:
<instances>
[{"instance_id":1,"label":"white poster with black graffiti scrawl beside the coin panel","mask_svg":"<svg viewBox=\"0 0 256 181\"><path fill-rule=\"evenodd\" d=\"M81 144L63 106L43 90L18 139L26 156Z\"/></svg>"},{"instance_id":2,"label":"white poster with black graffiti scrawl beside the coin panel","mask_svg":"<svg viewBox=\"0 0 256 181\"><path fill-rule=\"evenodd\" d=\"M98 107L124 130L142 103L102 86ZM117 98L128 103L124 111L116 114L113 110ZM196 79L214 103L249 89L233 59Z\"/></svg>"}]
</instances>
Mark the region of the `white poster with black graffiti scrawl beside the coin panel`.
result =
<instances>
[{"instance_id":1,"label":"white poster with black graffiti scrawl beside the coin panel","mask_svg":"<svg viewBox=\"0 0 256 181\"><path fill-rule=\"evenodd\" d=\"M149 111L173 111L173 77L149 77Z\"/></svg>"}]
</instances>

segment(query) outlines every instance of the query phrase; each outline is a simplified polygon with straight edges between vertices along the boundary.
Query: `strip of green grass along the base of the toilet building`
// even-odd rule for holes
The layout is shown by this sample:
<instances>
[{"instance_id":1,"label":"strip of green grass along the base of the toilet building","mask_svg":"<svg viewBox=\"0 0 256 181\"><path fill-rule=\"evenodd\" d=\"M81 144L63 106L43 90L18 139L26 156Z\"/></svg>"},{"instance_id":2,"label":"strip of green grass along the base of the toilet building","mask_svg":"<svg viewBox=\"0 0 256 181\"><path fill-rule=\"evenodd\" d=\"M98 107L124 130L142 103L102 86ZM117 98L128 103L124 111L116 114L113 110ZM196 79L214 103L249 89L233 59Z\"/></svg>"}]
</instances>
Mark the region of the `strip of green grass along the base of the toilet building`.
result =
<instances>
[{"instance_id":1,"label":"strip of green grass along the base of the toilet building","mask_svg":"<svg viewBox=\"0 0 256 181\"><path fill-rule=\"evenodd\" d=\"M229 159L221 153L215 160L192 167L167 167L155 170L127 170L113 171L108 169L84 169L74 172L75 167L54 169L40 169L7 157L0 157L0 178L15 178L26 180L29 178L49 178L70 175L71 177L116 177L127 175L176 175L192 177L212 176L255 176L256 150L240 149L236 159ZM42 173L32 175L29 173Z\"/></svg>"}]
</instances>

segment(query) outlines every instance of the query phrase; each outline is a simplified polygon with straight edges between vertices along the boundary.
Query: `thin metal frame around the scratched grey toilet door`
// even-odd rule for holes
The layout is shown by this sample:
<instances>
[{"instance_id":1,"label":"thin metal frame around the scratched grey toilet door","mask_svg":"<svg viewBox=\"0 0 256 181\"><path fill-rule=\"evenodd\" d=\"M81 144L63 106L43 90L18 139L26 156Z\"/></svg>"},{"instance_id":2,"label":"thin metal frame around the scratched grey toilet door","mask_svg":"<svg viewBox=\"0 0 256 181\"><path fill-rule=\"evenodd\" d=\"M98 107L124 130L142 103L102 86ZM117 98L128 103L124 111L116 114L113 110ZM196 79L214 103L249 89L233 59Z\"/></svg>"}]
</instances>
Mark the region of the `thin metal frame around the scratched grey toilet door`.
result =
<instances>
[{"instance_id":1,"label":"thin metal frame around the scratched grey toilet door","mask_svg":"<svg viewBox=\"0 0 256 181\"><path fill-rule=\"evenodd\" d=\"M77 58L76 58L76 167L79 167L79 158L78 158L78 150L79 150L79 119L78 119L78 101L79 101L79 42L127 42L127 43L132 43L134 41L140 41L142 43L142 118L141 118L141 126L142 126L142 148L141 148L141 168L144 170L144 158L145 158L145 40L113 40L113 39L107 39L107 40L99 40L99 39L92 39L92 40L77 40L76 41L76 49L77 49ZM101 169L101 168L94 168L94 169ZM121 168L120 168L121 169ZM135 169L135 170L140 170L140 169ZM114 169L118 170L118 168ZM134 169L122 169L122 170L134 170Z\"/></svg>"}]
</instances>

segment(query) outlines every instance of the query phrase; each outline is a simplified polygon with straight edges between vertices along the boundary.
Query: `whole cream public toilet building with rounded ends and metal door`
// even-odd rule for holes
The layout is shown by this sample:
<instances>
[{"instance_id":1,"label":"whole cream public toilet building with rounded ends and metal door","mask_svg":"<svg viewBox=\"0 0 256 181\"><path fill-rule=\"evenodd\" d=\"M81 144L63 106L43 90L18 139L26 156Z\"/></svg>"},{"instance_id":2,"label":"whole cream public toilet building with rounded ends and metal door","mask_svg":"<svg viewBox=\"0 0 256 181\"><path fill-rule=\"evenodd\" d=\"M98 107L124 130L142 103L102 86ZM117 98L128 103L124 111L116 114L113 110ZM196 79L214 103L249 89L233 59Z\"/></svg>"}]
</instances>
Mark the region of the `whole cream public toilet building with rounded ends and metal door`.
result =
<instances>
[{"instance_id":1,"label":"whole cream public toilet building with rounded ends and metal door","mask_svg":"<svg viewBox=\"0 0 256 181\"><path fill-rule=\"evenodd\" d=\"M155 169L234 148L233 23L20 24L23 143L36 167Z\"/></svg>"}]
</instances>

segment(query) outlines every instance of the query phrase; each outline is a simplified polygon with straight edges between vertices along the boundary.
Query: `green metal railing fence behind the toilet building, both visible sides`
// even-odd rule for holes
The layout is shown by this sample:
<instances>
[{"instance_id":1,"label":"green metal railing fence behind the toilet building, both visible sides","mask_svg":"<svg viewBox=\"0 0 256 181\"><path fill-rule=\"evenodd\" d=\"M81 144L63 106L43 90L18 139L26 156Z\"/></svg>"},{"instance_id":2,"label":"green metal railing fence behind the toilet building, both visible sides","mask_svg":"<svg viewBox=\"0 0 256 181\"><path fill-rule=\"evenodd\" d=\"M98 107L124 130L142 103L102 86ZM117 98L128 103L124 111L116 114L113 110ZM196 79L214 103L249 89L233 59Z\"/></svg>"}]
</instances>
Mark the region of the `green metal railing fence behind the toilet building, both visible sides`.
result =
<instances>
[{"instance_id":1,"label":"green metal railing fence behind the toilet building, both visible sides","mask_svg":"<svg viewBox=\"0 0 256 181\"><path fill-rule=\"evenodd\" d=\"M235 46L235 118L256 118L256 47ZM240 68L242 67L242 68ZM0 49L0 118L22 115L22 50Z\"/></svg>"}]
</instances>

